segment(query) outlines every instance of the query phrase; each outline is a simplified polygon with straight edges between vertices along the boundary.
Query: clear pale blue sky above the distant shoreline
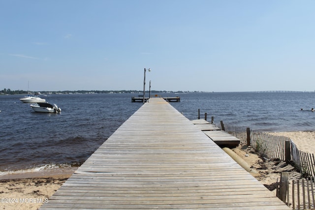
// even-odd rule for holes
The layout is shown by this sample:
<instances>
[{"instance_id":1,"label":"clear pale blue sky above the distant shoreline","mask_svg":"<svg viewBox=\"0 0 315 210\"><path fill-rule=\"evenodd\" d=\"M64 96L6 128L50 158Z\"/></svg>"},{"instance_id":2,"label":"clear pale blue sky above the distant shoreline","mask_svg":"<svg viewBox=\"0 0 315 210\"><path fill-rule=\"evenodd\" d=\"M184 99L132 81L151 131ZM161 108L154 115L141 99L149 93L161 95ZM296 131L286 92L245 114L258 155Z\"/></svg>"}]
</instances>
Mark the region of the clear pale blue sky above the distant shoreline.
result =
<instances>
[{"instance_id":1,"label":"clear pale blue sky above the distant shoreline","mask_svg":"<svg viewBox=\"0 0 315 210\"><path fill-rule=\"evenodd\" d=\"M0 90L315 90L314 0L0 0Z\"/></svg>"}]
</instances>

